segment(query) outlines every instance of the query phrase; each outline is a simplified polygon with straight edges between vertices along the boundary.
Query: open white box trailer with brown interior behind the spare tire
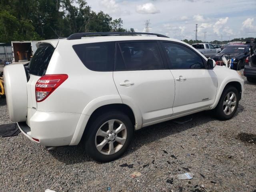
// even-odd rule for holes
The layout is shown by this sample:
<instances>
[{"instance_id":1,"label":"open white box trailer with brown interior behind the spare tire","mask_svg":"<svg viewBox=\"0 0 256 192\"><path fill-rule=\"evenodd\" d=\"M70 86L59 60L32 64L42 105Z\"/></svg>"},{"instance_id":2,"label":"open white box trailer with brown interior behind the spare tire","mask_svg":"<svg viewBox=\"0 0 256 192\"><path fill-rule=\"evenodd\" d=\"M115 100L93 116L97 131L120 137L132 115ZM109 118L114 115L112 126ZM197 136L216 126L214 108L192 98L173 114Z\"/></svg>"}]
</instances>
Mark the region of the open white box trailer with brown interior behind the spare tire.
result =
<instances>
[{"instance_id":1,"label":"open white box trailer with brown interior behind the spare tire","mask_svg":"<svg viewBox=\"0 0 256 192\"><path fill-rule=\"evenodd\" d=\"M28 62L36 52L37 41L12 41L12 56L14 62Z\"/></svg>"}]
</instances>

